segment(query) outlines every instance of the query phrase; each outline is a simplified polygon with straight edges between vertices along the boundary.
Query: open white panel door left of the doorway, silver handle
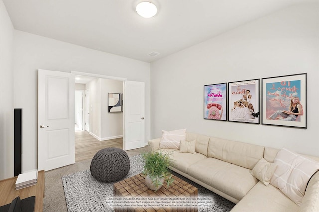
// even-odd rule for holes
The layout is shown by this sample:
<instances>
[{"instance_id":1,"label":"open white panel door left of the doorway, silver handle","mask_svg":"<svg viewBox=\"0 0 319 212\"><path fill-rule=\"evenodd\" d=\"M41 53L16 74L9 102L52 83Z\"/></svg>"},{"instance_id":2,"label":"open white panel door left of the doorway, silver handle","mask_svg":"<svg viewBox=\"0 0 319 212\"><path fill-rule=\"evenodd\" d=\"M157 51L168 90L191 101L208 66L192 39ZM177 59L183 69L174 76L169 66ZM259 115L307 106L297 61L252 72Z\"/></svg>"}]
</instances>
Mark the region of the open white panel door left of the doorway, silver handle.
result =
<instances>
[{"instance_id":1,"label":"open white panel door left of the doorway, silver handle","mask_svg":"<svg viewBox=\"0 0 319 212\"><path fill-rule=\"evenodd\" d=\"M74 74L39 69L38 170L75 162Z\"/></svg>"}]
</instances>

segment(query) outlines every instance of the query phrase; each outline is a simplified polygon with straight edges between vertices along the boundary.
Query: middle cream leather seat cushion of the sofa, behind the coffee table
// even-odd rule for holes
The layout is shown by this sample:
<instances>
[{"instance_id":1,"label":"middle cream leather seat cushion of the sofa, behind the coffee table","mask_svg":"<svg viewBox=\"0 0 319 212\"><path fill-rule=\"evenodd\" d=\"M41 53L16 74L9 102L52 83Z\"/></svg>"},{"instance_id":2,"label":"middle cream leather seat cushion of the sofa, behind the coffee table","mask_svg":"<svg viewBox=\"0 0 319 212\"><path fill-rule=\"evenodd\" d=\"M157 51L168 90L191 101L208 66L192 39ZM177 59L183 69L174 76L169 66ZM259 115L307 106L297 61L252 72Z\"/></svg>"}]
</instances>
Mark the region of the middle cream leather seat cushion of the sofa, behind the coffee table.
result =
<instances>
[{"instance_id":1,"label":"middle cream leather seat cushion of the sofa, behind the coffee table","mask_svg":"<svg viewBox=\"0 0 319 212\"><path fill-rule=\"evenodd\" d=\"M187 173L237 200L242 199L258 182L249 169L211 157L194 163Z\"/></svg>"}]
</instances>

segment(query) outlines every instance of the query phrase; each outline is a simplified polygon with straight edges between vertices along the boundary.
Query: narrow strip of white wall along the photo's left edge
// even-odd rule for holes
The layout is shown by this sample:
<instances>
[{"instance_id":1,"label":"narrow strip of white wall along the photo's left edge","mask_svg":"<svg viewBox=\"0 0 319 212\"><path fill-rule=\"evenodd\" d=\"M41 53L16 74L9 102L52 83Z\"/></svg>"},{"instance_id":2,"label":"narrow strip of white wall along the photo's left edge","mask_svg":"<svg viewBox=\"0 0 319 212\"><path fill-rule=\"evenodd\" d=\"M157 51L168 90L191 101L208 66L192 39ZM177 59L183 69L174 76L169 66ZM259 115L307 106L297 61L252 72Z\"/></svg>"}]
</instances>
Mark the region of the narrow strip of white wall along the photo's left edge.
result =
<instances>
[{"instance_id":1,"label":"narrow strip of white wall along the photo's left edge","mask_svg":"<svg viewBox=\"0 0 319 212\"><path fill-rule=\"evenodd\" d=\"M0 180L14 174L13 33L10 17L0 0Z\"/></svg>"}]
</instances>

